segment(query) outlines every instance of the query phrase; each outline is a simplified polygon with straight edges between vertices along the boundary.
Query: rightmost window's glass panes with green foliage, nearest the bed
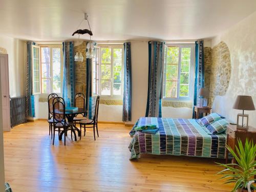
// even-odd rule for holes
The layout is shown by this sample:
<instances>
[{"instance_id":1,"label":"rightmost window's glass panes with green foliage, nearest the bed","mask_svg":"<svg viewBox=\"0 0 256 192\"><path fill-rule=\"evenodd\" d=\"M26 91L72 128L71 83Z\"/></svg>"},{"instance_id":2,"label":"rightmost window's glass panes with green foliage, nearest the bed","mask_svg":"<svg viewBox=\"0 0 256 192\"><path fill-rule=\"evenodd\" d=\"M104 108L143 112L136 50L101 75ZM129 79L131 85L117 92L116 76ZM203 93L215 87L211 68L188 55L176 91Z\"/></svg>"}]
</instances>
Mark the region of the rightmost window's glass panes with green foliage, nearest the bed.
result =
<instances>
[{"instance_id":1,"label":"rightmost window's glass panes with green foliage, nearest the bed","mask_svg":"<svg viewBox=\"0 0 256 192\"><path fill-rule=\"evenodd\" d=\"M191 99L194 81L194 45L168 45L165 49L164 95Z\"/></svg>"}]
</instances>

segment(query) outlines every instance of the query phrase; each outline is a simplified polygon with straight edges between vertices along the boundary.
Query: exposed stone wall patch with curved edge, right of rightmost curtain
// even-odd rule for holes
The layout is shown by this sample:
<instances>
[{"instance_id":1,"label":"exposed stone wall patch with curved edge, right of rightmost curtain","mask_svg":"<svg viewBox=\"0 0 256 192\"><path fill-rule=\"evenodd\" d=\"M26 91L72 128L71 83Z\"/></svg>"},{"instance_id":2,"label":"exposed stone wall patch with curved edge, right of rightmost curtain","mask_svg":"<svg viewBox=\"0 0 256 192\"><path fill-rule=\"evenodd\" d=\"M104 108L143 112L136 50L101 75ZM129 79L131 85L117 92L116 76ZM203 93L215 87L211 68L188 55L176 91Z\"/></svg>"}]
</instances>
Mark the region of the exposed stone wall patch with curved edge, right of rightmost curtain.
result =
<instances>
[{"instance_id":1,"label":"exposed stone wall patch with curved edge, right of rightmost curtain","mask_svg":"<svg viewBox=\"0 0 256 192\"><path fill-rule=\"evenodd\" d=\"M210 56L205 56L205 61L207 60L208 62ZM209 72L207 71L207 78L208 74ZM217 46L215 46L211 50L209 106L212 106L212 103L214 102L216 96L223 96L226 94L230 80L230 75L231 63L229 49L225 42L221 41Z\"/></svg>"}]
</instances>

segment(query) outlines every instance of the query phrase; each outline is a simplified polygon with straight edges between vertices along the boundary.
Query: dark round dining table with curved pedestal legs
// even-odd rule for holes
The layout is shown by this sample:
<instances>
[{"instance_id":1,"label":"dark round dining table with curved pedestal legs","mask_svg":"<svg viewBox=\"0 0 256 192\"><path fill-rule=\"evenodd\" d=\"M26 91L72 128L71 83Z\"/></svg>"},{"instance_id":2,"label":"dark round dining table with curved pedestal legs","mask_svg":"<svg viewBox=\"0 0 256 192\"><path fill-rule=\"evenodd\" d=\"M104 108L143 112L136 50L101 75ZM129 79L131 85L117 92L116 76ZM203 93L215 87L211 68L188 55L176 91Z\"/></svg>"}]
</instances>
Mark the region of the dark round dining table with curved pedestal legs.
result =
<instances>
[{"instance_id":1,"label":"dark round dining table with curved pedestal legs","mask_svg":"<svg viewBox=\"0 0 256 192\"><path fill-rule=\"evenodd\" d=\"M74 117L75 117L76 115L78 115L78 114L84 114L84 113L86 113L86 110L83 109L83 108L78 108L78 110L73 111L73 112L70 112L70 111L66 111L66 112L65 112L65 115L66 115L66 117L67 117L67 119L68 119L69 124L71 124L72 127L73 127L73 129L72 129L71 127L68 127L68 129L67 129L66 131L71 130L71 131L74 133L75 141L77 140L77 139L76 139L76 132L75 132L75 131L77 131L78 136L80 136L81 133L80 133L80 130L79 130L79 129L75 126L75 124L74 124ZM61 140L62 135L63 135L64 133L65 133L64 130L61 131L61 133L59 134L59 140ZM71 133L71 134L72 134L72 133Z\"/></svg>"}]
</instances>

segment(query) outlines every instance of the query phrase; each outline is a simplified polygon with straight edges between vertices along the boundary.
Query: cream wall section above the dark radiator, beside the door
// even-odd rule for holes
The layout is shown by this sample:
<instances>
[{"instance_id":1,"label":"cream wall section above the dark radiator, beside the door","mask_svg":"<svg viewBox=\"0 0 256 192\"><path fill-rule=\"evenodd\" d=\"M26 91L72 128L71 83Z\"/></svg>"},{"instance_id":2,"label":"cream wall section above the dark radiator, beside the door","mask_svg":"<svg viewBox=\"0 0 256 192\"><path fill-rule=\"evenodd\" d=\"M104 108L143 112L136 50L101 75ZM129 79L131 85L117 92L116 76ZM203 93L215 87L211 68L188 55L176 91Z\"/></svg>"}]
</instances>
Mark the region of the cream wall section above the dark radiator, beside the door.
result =
<instances>
[{"instance_id":1,"label":"cream wall section above the dark radiator, beside the door","mask_svg":"<svg viewBox=\"0 0 256 192\"><path fill-rule=\"evenodd\" d=\"M7 50L9 60L10 96L25 95L25 42L0 36L0 47Z\"/></svg>"}]
</instances>

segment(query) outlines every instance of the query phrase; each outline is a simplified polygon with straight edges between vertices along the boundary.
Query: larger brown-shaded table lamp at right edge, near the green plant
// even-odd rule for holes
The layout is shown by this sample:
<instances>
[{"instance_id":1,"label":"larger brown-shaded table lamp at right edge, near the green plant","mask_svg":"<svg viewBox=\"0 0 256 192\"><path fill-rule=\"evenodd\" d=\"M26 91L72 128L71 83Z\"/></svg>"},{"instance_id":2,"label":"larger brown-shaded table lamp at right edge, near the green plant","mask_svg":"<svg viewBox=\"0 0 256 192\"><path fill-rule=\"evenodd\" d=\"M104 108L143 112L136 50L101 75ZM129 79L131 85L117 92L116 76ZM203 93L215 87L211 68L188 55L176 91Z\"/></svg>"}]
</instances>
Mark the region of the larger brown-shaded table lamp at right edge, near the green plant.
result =
<instances>
[{"instance_id":1,"label":"larger brown-shaded table lamp at right edge, near the green plant","mask_svg":"<svg viewBox=\"0 0 256 192\"><path fill-rule=\"evenodd\" d=\"M253 111L255 110L255 106L253 103L253 100L251 98L251 96L247 96L247 95L238 95L236 102L233 105L233 109L236 110L243 110L243 114L238 114L237 117L237 128L238 129L248 129L248 118L249 115L244 114L244 110L248 110L248 111ZM242 125L239 124L239 117L242 117ZM247 118L247 122L244 126L244 117Z\"/></svg>"}]
</instances>

